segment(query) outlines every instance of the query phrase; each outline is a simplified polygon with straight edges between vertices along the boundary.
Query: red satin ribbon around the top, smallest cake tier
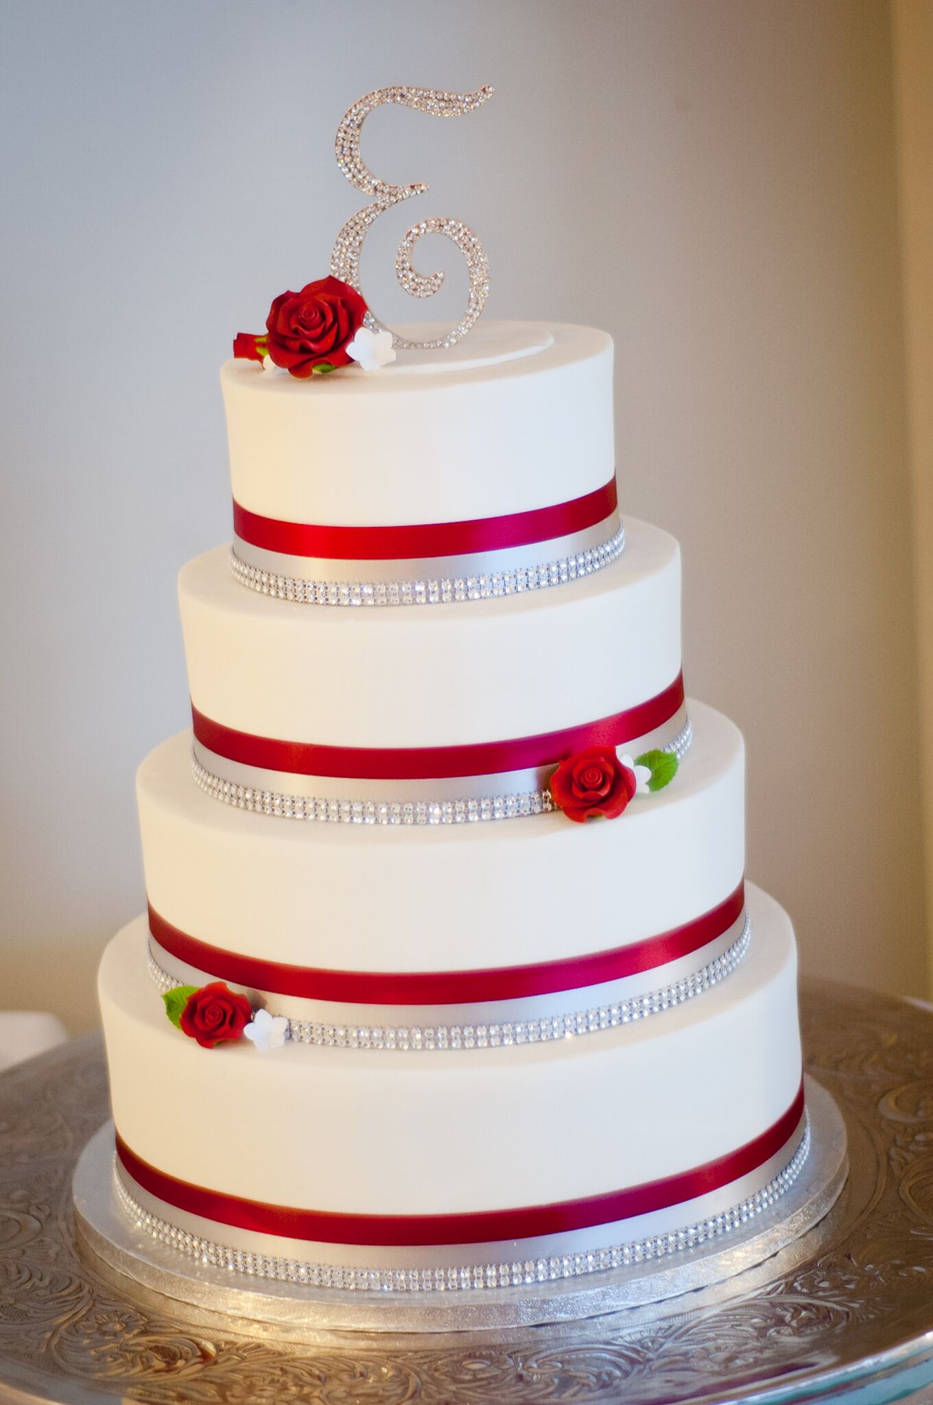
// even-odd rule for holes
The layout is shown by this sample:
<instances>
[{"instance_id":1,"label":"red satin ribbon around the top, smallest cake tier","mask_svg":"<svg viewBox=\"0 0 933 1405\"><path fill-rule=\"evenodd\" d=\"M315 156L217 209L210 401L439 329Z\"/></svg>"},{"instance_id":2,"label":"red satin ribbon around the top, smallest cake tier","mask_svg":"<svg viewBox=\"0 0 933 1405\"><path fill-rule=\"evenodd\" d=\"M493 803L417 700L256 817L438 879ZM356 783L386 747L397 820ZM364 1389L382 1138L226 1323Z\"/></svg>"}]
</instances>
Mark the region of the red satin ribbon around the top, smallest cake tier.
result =
<instances>
[{"instance_id":1,"label":"red satin ribbon around the top, smallest cake tier","mask_svg":"<svg viewBox=\"0 0 933 1405\"><path fill-rule=\"evenodd\" d=\"M410 527L323 527L260 517L233 500L233 531L242 541L288 556L333 561L410 561L419 556L469 556L506 547L530 547L586 531L618 506L615 478L569 503L535 507L504 517L474 517L462 523L416 523Z\"/></svg>"}]
</instances>

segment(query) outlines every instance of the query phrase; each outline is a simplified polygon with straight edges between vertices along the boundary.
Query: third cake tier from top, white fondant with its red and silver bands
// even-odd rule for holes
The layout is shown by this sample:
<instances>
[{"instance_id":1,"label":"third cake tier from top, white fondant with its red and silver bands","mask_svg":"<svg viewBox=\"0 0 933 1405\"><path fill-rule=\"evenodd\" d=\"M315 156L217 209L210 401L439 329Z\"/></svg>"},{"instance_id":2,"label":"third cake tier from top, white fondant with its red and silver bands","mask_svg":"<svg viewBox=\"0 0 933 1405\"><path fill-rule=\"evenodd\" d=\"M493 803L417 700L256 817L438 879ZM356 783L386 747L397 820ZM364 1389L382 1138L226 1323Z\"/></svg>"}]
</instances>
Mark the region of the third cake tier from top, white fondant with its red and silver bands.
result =
<instances>
[{"instance_id":1,"label":"third cake tier from top, white fondant with its red and silver bands","mask_svg":"<svg viewBox=\"0 0 933 1405\"><path fill-rule=\"evenodd\" d=\"M691 714L676 783L587 825L246 813L191 783L181 733L138 777L153 979L222 978L319 1041L516 1020L547 1037L547 1021L693 998L738 964L748 930L742 736Z\"/></svg>"}]
</instances>

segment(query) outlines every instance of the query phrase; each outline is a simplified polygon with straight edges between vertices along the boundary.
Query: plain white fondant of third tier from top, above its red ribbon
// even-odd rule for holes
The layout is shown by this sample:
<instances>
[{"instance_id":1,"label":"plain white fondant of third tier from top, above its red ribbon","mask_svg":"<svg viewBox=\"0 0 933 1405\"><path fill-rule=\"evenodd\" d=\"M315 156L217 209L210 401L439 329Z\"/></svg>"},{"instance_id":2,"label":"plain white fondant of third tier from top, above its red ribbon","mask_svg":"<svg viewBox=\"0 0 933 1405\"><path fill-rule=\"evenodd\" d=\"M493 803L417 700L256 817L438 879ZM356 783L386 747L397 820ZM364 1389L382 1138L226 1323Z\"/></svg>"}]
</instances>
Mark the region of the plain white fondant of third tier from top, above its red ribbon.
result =
<instances>
[{"instance_id":1,"label":"plain white fondant of third tier from top, above its red ribbon","mask_svg":"<svg viewBox=\"0 0 933 1405\"><path fill-rule=\"evenodd\" d=\"M441 971L603 951L715 908L745 865L745 753L690 702L670 785L615 821L381 828L247 813L191 780L191 735L136 783L149 899L201 941L296 965Z\"/></svg>"}]
</instances>

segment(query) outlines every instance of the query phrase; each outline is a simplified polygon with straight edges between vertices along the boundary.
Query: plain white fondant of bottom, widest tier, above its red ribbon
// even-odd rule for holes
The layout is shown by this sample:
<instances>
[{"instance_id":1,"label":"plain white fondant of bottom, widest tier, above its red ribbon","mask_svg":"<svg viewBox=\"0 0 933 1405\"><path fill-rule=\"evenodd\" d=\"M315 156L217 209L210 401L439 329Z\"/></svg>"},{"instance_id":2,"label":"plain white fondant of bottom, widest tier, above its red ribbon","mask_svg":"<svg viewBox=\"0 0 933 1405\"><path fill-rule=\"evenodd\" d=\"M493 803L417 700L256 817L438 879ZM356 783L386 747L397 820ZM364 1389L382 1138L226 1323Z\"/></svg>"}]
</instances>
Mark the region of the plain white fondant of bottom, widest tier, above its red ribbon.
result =
<instances>
[{"instance_id":1,"label":"plain white fondant of bottom, widest tier, above its red ribbon","mask_svg":"<svg viewBox=\"0 0 933 1405\"><path fill-rule=\"evenodd\" d=\"M131 926L100 971L117 1128L181 1180L348 1214L537 1205L676 1175L766 1131L800 1085L791 924L756 888L749 909L752 951L696 1000L457 1054L202 1050L169 1023Z\"/></svg>"}]
</instances>

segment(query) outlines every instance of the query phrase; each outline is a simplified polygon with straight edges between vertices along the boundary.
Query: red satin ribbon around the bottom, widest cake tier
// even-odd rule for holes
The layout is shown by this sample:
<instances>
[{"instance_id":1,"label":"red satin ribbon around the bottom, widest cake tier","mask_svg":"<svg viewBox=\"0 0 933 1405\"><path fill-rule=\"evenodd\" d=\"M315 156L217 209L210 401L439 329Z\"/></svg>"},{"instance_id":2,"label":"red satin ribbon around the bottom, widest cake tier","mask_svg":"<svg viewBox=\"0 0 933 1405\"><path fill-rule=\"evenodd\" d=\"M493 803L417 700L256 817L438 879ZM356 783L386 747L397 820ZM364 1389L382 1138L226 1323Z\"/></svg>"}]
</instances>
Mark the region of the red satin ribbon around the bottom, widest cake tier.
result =
<instances>
[{"instance_id":1,"label":"red satin ribbon around the bottom, widest cake tier","mask_svg":"<svg viewBox=\"0 0 933 1405\"><path fill-rule=\"evenodd\" d=\"M216 1057L216 1055L215 1055ZM711 1190L757 1170L791 1139L804 1116L804 1085L773 1127L726 1156L718 1156L693 1170L665 1176L625 1190L613 1190L583 1200L561 1200L549 1205L518 1210L482 1210L454 1215L350 1215L325 1210L295 1210L261 1200L242 1200L221 1190L207 1190L176 1180L136 1156L117 1132L117 1155L143 1190L191 1215L249 1229L254 1234L313 1239L320 1243L381 1245L393 1248L423 1245L485 1243L493 1239L531 1239L538 1235L589 1229L632 1215L694 1200Z\"/></svg>"}]
</instances>

